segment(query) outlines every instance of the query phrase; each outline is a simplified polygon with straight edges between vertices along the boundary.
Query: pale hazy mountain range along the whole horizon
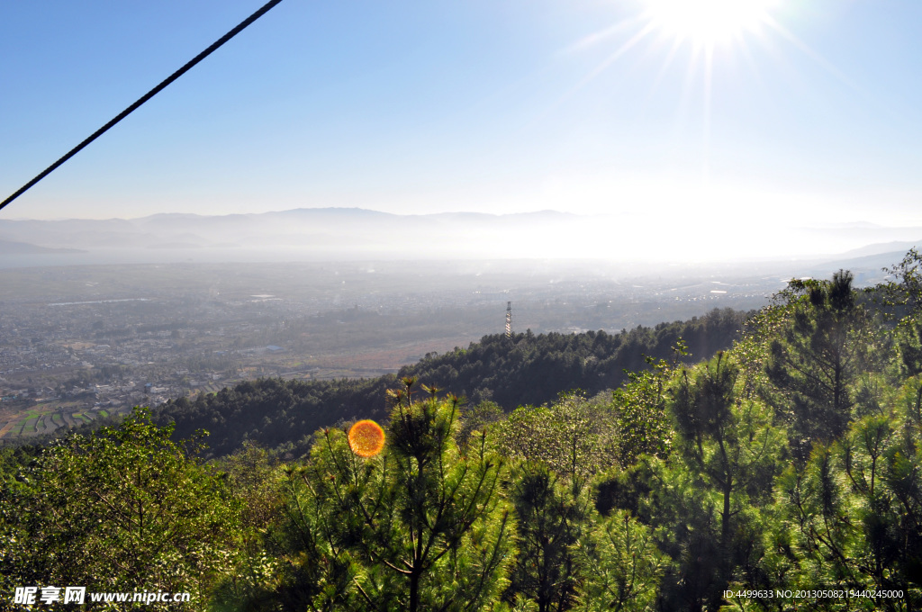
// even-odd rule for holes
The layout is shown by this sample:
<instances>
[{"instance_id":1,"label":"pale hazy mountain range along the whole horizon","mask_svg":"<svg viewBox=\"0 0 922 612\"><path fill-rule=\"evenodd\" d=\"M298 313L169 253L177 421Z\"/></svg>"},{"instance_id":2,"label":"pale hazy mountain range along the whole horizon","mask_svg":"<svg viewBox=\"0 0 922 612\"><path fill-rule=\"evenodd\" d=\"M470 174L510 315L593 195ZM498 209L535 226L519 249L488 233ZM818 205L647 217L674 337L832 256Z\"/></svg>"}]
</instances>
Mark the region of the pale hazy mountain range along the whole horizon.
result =
<instances>
[{"instance_id":1,"label":"pale hazy mountain range along the whole horizon","mask_svg":"<svg viewBox=\"0 0 922 612\"><path fill-rule=\"evenodd\" d=\"M905 253L922 244L922 228L852 223L793 228L784 237L786 243L803 245L803 253L811 254L774 254L774 236L750 231L756 233L703 237L690 230L687 237L677 237L674 232L661 235L655 217L628 223L616 216L553 210L511 215L395 215L364 208L296 208L220 216L169 213L104 220L0 219L0 255L76 255L67 264L99 263L90 262L88 255L80 254L84 252L96 253L97 259L100 253L110 253L106 256L116 260L130 253L132 261L151 263L170 257L176 261L570 258L682 263L702 257L695 254L696 249L716 244L721 251L719 259L712 255L713 261L789 261L799 256L801 261L809 257L822 262ZM762 243L761 255L745 252L757 242ZM902 254L895 261L900 258Z\"/></svg>"}]
</instances>

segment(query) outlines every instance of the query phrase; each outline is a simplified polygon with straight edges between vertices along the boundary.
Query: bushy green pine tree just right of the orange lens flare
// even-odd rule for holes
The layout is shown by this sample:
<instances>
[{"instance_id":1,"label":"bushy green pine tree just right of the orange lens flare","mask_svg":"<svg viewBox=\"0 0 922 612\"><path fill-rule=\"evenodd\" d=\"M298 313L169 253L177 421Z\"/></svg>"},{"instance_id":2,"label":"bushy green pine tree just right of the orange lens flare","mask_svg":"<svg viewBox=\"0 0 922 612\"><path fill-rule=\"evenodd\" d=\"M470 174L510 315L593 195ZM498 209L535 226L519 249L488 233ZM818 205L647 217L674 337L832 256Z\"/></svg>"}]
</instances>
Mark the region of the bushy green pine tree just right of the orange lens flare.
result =
<instances>
[{"instance_id":1,"label":"bushy green pine tree just right of the orange lens flare","mask_svg":"<svg viewBox=\"0 0 922 612\"><path fill-rule=\"evenodd\" d=\"M290 471L294 571L281 590L309 609L490 610L507 584L506 467L486 432L461 455L457 398L412 402L413 383L393 395L384 453L361 459L326 430Z\"/></svg>"}]
</instances>

